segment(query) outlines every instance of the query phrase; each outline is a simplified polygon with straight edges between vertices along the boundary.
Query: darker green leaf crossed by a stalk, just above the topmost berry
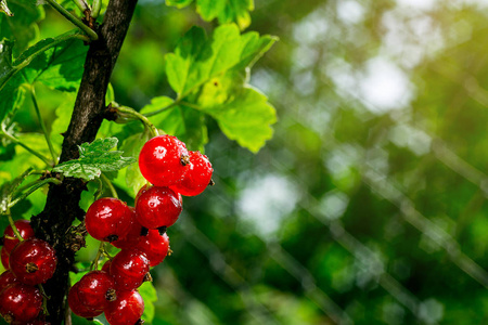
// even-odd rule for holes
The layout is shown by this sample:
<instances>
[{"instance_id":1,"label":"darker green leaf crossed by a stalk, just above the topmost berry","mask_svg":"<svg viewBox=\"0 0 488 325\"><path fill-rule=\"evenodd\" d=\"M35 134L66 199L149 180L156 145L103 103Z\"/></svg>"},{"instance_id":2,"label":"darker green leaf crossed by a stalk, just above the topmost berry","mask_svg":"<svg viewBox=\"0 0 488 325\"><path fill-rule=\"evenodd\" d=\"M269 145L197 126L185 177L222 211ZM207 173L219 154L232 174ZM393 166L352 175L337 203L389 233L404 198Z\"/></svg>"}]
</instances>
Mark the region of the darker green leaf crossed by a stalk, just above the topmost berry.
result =
<instances>
[{"instance_id":1,"label":"darker green leaf crossed by a stalk, just above the topmost berry","mask_svg":"<svg viewBox=\"0 0 488 325\"><path fill-rule=\"evenodd\" d=\"M167 96L154 98L151 100L151 104L141 109L141 113L156 112L168 107L172 103L174 100ZM203 152L204 145L208 142L205 114L184 105L177 105L166 109L151 117L150 120L156 128L178 136L178 139L187 143L189 150Z\"/></svg>"}]
</instances>

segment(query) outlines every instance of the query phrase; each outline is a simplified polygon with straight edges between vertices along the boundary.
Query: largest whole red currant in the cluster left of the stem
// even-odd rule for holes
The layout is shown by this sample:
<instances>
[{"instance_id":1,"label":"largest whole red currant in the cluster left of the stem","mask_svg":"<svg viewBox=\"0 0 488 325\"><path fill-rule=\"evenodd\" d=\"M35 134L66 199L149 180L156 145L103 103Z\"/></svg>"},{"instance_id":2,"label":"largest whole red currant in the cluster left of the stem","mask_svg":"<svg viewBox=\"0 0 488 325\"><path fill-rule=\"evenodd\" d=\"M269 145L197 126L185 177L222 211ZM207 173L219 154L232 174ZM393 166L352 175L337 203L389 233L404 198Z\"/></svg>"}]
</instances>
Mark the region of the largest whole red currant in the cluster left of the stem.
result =
<instances>
[{"instance_id":1,"label":"largest whole red currant in the cluster left of the stem","mask_svg":"<svg viewBox=\"0 0 488 325\"><path fill-rule=\"evenodd\" d=\"M56 270L57 258L47 242L31 238L21 242L10 255L10 270L28 285L46 283Z\"/></svg>"}]
</instances>

